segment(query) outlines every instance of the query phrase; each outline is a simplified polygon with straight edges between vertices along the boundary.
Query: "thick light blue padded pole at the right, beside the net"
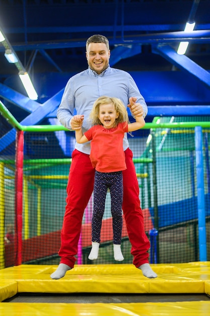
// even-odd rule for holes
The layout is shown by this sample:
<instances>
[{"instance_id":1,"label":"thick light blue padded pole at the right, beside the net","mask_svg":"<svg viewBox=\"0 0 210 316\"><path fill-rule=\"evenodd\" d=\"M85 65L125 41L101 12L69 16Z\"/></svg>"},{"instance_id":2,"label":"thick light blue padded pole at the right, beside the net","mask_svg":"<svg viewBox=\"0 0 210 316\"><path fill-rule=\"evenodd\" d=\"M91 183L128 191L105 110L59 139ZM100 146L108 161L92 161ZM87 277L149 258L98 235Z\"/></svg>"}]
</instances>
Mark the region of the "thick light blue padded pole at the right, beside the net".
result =
<instances>
[{"instance_id":1,"label":"thick light blue padded pole at the right, beside the net","mask_svg":"<svg viewBox=\"0 0 210 316\"><path fill-rule=\"evenodd\" d=\"M206 261L205 194L203 178L202 128L200 126L195 127L195 158L197 176L199 257L200 261Z\"/></svg>"}]
</instances>

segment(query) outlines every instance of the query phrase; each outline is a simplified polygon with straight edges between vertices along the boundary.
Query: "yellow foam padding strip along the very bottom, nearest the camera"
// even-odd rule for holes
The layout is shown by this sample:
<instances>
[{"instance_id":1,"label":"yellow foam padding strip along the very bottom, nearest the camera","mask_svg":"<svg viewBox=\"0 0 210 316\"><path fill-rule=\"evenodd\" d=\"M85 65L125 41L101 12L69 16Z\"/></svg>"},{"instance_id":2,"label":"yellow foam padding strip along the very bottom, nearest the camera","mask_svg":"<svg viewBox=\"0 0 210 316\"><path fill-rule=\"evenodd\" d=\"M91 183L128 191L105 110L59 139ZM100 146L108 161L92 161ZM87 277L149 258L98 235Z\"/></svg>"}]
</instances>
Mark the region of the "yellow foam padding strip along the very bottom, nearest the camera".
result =
<instances>
[{"instance_id":1,"label":"yellow foam padding strip along the very bottom, nearest the camera","mask_svg":"<svg viewBox=\"0 0 210 316\"><path fill-rule=\"evenodd\" d=\"M210 301L165 303L0 303L1 316L209 316Z\"/></svg>"}]
</instances>

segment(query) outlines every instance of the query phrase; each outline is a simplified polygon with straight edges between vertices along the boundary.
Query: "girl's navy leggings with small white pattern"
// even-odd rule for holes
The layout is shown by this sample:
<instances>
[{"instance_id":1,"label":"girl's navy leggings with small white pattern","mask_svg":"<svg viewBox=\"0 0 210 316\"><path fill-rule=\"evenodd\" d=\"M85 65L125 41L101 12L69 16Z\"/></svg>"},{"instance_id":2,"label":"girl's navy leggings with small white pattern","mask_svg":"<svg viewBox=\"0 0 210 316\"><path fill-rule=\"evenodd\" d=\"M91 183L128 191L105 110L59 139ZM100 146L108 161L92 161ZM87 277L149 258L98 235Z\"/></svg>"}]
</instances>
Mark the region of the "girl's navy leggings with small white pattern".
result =
<instances>
[{"instance_id":1,"label":"girl's navy leggings with small white pattern","mask_svg":"<svg viewBox=\"0 0 210 316\"><path fill-rule=\"evenodd\" d=\"M102 218L105 210L107 189L111 196L113 243L121 244L122 237L122 172L95 172L92 241L100 243Z\"/></svg>"}]
</instances>

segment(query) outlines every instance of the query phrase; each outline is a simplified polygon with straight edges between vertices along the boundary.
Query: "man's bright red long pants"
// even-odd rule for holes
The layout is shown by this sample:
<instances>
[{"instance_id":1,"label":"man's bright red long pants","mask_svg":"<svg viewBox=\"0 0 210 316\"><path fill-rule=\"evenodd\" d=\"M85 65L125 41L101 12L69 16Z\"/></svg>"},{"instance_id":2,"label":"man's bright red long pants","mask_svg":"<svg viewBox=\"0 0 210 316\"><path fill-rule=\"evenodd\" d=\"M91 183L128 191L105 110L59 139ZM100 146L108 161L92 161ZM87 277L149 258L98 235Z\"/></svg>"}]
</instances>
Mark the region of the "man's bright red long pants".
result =
<instances>
[{"instance_id":1,"label":"man's bright red long pants","mask_svg":"<svg viewBox=\"0 0 210 316\"><path fill-rule=\"evenodd\" d=\"M125 150L127 169L123 173L122 210L131 243L133 265L139 266L149 262L150 241L145 234L144 217L139 201L139 188L132 151ZM74 268L78 251L84 210L93 192L94 174L89 155L75 149L67 183L67 197L63 226L61 230L61 247L58 252L60 263Z\"/></svg>"}]
</instances>

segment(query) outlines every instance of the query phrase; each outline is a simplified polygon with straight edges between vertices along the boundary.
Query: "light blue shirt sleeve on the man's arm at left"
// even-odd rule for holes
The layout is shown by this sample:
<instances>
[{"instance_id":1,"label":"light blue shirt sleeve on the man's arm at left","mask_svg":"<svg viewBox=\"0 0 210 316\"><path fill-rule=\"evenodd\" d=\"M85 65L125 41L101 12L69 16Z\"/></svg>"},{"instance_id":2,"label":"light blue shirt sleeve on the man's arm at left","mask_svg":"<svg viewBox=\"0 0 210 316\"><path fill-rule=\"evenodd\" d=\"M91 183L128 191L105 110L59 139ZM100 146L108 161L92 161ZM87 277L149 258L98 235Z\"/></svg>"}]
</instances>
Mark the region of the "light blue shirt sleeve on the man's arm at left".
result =
<instances>
[{"instance_id":1,"label":"light blue shirt sleeve on the man's arm at left","mask_svg":"<svg viewBox=\"0 0 210 316\"><path fill-rule=\"evenodd\" d=\"M65 86L61 102L57 110L58 121L68 129L71 129L70 121L73 118L75 110L75 97L72 85L73 83L71 78Z\"/></svg>"}]
</instances>

